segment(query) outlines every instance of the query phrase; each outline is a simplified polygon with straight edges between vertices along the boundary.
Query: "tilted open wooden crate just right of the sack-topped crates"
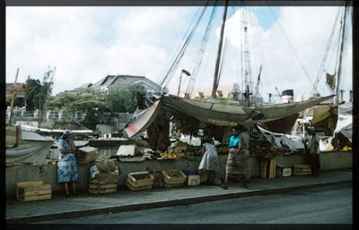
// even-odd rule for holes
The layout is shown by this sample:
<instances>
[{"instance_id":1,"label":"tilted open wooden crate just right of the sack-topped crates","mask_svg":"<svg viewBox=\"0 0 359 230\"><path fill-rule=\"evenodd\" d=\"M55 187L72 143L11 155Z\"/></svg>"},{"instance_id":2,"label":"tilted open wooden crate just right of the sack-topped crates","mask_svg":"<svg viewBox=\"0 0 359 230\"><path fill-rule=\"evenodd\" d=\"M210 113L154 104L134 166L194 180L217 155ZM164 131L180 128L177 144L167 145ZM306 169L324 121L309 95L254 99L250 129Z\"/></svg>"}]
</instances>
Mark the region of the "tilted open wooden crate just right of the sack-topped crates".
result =
<instances>
[{"instance_id":1,"label":"tilted open wooden crate just right of the sack-topped crates","mask_svg":"<svg viewBox=\"0 0 359 230\"><path fill-rule=\"evenodd\" d=\"M126 185L132 191L152 189L154 177L147 171L129 173Z\"/></svg>"}]
</instances>

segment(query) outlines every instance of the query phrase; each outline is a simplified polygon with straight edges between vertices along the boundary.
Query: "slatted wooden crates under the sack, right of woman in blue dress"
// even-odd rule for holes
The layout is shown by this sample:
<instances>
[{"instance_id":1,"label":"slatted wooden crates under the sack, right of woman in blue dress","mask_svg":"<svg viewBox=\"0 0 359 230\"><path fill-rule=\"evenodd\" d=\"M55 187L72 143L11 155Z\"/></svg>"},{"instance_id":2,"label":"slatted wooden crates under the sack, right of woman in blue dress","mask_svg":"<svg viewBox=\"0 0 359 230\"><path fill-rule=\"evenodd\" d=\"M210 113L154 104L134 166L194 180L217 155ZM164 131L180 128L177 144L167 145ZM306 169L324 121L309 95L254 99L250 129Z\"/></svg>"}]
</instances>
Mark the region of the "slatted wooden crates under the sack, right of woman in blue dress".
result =
<instances>
[{"instance_id":1,"label":"slatted wooden crates under the sack, right of woman in blue dress","mask_svg":"<svg viewBox=\"0 0 359 230\"><path fill-rule=\"evenodd\" d=\"M104 194L118 191L118 173L98 174L90 179L89 192Z\"/></svg>"}]
</instances>

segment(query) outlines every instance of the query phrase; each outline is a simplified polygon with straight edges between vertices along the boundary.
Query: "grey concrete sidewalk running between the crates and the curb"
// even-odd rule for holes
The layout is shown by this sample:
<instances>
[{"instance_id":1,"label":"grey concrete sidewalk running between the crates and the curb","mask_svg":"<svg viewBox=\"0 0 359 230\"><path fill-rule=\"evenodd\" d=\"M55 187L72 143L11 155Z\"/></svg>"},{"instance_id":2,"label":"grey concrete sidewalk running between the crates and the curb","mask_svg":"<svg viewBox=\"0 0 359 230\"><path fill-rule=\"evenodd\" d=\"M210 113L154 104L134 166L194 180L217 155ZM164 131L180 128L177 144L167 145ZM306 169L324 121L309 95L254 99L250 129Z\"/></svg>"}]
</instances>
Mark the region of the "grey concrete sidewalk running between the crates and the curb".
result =
<instances>
[{"instance_id":1,"label":"grey concrete sidewalk running between the crates and the curb","mask_svg":"<svg viewBox=\"0 0 359 230\"><path fill-rule=\"evenodd\" d=\"M53 195L51 200L21 201L7 199L7 224L26 224L38 221L83 217L97 214L154 209L175 205L188 205L213 200L226 200L256 195L268 195L316 187L350 184L352 170L321 172L319 176L292 175L276 179L252 178L249 188L229 183L228 190L219 186L197 185L179 188L160 188L145 191L128 191L94 195L87 192L66 198Z\"/></svg>"}]
</instances>

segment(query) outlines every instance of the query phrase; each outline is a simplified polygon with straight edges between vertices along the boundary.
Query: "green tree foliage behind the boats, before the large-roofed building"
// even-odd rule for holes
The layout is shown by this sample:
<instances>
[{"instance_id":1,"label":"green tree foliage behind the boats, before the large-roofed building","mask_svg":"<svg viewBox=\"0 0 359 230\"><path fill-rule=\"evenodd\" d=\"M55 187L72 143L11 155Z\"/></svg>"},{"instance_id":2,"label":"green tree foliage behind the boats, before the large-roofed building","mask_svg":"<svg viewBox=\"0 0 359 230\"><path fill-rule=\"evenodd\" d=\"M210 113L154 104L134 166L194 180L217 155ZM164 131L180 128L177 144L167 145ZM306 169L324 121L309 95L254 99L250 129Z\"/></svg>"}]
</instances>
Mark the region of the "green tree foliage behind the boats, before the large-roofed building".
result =
<instances>
[{"instance_id":1,"label":"green tree foliage behind the boats, before the large-roofed building","mask_svg":"<svg viewBox=\"0 0 359 230\"><path fill-rule=\"evenodd\" d=\"M42 109L45 99L48 98L48 109L62 109L67 115L80 112L86 115L85 123L96 124L104 113L133 113L136 110L136 89L109 88L109 91L100 89L78 88L66 90L56 96L47 97L49 93L49 72L44 75L43 81L28 77L25 84L25 98L17 98L15 106L24 106L27 110ZM11 98L6 104L10 105ZM90 125L92 126L92 125Z\"/></svg>"}]
</instances>

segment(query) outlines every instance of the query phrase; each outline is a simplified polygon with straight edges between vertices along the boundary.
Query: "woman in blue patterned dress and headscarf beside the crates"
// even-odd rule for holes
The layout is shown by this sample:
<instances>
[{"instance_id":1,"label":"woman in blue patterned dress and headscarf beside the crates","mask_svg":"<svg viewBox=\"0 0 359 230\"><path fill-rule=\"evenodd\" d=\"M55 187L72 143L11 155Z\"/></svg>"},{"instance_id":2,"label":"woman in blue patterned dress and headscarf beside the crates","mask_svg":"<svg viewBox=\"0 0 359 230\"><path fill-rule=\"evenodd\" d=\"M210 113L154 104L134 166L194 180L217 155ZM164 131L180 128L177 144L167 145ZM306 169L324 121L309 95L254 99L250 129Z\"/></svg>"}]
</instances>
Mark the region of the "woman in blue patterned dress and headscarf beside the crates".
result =
<instances>
[{"instance_id":1,"label":"woman in blue patterned dress and headscarf beside the crates","mask_svg":"<svg viewBox=\"0 0 359 230\"><path fill-rule=\"evenodd\" d=\"M57 183L64 183L66 197L70 195L68 192L68 183L72 183L74 195L77 195L76 184L79 181L76 158L74 158L74 141L72 139L71 130L66 130L58 141L58 162L57 162Z\"/></svg>"}]
</instances>

